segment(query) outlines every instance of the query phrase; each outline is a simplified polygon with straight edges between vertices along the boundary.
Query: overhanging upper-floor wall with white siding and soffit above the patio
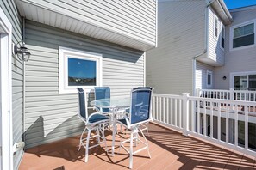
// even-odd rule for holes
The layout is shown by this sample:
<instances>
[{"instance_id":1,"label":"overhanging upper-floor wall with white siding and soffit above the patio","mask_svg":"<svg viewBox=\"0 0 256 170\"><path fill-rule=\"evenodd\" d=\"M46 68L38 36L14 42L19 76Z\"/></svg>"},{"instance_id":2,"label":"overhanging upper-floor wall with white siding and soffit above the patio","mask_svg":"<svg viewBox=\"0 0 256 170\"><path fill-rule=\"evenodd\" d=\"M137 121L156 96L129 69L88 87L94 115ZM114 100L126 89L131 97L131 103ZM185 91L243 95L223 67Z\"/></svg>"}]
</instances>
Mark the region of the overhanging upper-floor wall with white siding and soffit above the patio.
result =
<instances>
[{"instance_id":1,"label":"overhanging upper-floor wall with white siding and soffit above the patio","mask_svg":"<svg viewBox=\"0 0 256 170\"><path fill-rule=\"evenodd\" d=\"M134 44L144 42L152 47L156 45L155 0L17 0L17 2L22 15L28 20L116 44L121 44L122 39L128 37ZM136 39L137 42L132 39ZM123 43L122 45L126 46L125 42Z\"/></svg>"}]
</instances>

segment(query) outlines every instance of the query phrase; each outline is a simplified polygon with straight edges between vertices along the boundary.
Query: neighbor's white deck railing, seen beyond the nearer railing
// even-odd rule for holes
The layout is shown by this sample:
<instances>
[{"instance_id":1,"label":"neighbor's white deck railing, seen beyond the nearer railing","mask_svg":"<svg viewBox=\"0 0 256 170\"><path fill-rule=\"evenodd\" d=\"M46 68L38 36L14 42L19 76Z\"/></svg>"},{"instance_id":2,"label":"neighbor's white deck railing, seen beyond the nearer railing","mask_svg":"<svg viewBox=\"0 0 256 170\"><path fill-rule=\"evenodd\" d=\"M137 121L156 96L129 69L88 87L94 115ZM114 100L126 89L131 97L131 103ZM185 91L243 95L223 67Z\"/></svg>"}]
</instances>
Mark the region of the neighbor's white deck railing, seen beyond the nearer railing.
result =
<instances>
[{"instance_id":1,"label":"neighbor's white deck railing, seen beyond the nearer railing","mask_svg":"<svg viewBox=\"0 0 256 170\"><path fill-rule=\"evenodd\" d=\"M197 97L256 101L256 91L236 90L234 88L230 88L229 90L197 88Z\"/></svg>"}]
</instances>

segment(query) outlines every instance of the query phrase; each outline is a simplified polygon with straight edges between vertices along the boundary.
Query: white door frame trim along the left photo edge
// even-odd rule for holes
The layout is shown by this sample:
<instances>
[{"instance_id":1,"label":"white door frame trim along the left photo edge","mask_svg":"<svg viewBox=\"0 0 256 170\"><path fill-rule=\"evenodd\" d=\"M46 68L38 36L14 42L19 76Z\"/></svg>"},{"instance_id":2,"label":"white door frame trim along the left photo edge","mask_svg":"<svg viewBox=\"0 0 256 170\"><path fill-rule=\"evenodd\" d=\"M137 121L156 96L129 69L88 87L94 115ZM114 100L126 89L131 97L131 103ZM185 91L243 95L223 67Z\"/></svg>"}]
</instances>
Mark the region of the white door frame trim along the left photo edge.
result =
<instances>
[{"instance_id":1,"label":"white door frame trim along the left photo edge","mask_svg":"<svg viewBox=\"0 0 256 170\"><path fill-rule=\"evenodd\" d=\"M12 43L12 25L0 7L0 27L3 33L0 35L0 125L1 134L0 144L2 145L2 155L0 156L0 168L13 169L13 131L12 131L12 73L11 73L11 43Z\"/></svg>"}]
</instances>

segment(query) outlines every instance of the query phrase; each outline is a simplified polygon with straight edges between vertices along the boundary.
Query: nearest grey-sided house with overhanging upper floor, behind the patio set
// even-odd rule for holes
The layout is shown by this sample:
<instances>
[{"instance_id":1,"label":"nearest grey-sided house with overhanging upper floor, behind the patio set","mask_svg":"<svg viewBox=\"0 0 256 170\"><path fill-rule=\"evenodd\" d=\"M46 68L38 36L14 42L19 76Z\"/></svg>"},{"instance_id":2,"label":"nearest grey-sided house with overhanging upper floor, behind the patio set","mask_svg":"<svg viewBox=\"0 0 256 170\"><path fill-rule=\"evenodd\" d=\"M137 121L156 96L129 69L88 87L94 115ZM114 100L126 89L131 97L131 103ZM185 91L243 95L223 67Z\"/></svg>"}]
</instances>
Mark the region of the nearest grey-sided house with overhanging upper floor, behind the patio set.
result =
<instances>
[{"instance_id":1,"label":"nearest grey-sided house with overhanging upper floor, behind the patio set","mask_svg":"<svg viewBox=\"0 0 256 170\"><path fill-rule=\"evenodd\" d=\"M154 0L0 1L3 169L21 161L14 143L30 148L81 133L77 86L129 95L145 85L144 53L156 46L156 8ZM22 39L28 62L11 54L11 44Z\"/></svg>"}]
</instances>

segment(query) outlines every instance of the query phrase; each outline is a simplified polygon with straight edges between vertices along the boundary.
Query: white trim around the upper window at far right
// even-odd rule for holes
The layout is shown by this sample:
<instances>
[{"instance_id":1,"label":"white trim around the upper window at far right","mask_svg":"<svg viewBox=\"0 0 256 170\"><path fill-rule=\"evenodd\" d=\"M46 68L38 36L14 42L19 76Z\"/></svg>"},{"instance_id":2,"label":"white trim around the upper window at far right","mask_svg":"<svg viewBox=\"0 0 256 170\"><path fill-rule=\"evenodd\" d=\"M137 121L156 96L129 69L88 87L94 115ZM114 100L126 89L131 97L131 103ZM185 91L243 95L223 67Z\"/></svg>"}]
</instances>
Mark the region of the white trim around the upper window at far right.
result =
<instances>
[{"instance_id":1,"label":"white trim around the upper window at far right","mask_svg":"<svg viewBox=\"0 0 256 170\"><path fill-rule=\"evenodd\" d=\"M234 29L254 23L254 45L240 46L233 48ZM229 51L243 50L256 46L256 20L246 21L229 28Z\"/></svg>"}]
</instances>

